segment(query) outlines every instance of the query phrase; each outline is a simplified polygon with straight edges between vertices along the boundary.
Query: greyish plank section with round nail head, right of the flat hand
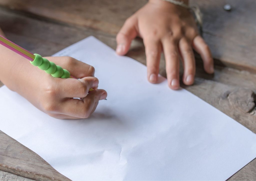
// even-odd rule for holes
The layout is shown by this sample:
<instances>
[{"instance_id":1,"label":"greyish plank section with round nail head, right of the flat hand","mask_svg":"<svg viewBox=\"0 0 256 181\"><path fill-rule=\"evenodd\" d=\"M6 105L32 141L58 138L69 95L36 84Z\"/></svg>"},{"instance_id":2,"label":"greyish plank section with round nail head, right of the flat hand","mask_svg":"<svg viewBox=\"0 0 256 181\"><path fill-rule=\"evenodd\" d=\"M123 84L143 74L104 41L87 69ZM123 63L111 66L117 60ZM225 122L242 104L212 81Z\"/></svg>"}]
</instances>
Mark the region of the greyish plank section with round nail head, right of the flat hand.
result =
<instances>
[{"instance_id":1,"label":"greyish plank section with round nail head, right of the flat hand","mask_svg":"<svg viewBox=\"0 0 256 181\"><path fill-rule=\"evenodd\" d=\"M231 11L223 9L230 4ZM215 59L227 66L256 72L256 1L191 1L204 15L204 39Z\"/></svg>"}]
</instances>

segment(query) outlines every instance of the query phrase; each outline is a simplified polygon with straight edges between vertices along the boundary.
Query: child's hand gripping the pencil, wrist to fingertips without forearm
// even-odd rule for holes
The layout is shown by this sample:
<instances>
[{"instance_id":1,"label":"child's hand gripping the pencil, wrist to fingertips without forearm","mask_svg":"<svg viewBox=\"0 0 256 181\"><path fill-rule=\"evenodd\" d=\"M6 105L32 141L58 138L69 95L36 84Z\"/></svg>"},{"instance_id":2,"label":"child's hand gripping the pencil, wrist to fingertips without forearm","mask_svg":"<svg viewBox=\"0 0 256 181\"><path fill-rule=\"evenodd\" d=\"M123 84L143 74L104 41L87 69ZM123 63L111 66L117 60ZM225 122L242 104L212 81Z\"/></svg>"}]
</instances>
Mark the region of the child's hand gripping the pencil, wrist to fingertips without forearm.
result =
<instances>
[{"instance_id":1,"label":"child's hand gripping the pencil, wrist to fingertips without forearm","mask_svg":"<svg viewBox=\"0 0 256 181\"><path fill-rule=\"evenodd\" d=\"M55 118L88 118L96 109L99 100L107 97L105 90L97 89L99 80L93 77L94 68L71 57L46 58L63 69L67 69L72 76L80 78L80 80L54 78L42 71L42 77L38 79L40 81L34 85L37 90L33 92L34 95L30 93L28 99L33 101L38 98L38 108ZM39 97L38 88L40 88ZM90 88L95 90L88 94Z\"/></svg>"}]
</instances>

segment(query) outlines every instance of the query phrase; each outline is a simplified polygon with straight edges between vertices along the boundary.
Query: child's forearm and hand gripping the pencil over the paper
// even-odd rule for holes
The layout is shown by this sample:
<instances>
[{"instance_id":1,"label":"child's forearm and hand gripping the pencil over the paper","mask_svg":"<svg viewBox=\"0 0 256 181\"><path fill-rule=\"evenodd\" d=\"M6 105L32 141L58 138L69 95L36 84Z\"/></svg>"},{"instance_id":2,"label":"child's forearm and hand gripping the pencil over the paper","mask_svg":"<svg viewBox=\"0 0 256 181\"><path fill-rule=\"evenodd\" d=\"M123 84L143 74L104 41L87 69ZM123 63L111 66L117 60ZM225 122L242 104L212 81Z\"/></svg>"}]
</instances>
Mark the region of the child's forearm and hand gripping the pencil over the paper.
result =
<instances>
[{"instance_id":1,"label":"child's forearm and hand gripping the pencil over the paper","mask_svg":"<svg viewBox=\"0 0 256 181\"><path fill-rule=\"evenodd\" d=\"M80 80L54 78L11 50L1 46L0 51L0 80L54 118L88 118L99 100L107 97L105 90L97 89L99 80L93 77L94 68L86 63L71 57L47 57ZM95 90L88 94L90 88Z\"/></svg>"}]
</instances>

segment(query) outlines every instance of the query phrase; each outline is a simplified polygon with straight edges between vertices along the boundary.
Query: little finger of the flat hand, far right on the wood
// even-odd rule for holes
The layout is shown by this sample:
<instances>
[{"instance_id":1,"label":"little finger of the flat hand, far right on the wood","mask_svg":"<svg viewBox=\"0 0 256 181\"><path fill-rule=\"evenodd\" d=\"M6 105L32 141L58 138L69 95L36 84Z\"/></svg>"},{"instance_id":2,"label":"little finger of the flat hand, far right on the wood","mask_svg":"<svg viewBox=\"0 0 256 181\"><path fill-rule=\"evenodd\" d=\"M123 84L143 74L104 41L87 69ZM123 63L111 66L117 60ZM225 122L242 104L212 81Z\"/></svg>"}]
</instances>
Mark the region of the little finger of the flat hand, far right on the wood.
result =
<instances>
[{"instance_id":1,"label":"little finger of the flat hand, far right on the wood","mask_svg":"<svg viewBox=\"0 0 256 181\"><path fill-rule=\"evenodd\" d=\"M196 36L193 40L193 48L200 54L204 62L204 69L207 73L214 72L214 62L210 48L201 36Z\"/></svg>"}]
</instances>

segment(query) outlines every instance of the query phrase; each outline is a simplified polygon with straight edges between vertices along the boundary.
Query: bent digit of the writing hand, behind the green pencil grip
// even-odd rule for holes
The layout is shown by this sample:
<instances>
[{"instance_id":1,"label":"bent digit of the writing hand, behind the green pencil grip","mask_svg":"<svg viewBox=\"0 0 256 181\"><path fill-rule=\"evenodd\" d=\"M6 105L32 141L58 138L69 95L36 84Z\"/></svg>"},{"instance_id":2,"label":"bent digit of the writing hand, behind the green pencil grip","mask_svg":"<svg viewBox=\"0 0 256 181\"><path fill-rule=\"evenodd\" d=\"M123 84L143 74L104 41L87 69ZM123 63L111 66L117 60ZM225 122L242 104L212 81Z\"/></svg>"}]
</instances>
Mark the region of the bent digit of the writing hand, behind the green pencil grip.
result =
<instances>
[{"instance_id":1,"label":"bent digit of the writing hand, behind the green pencil grip","mask_svg":"<svg viewBox=\"0 0 256 181\"><path fill-rule=\"evenodd\" d=\"M54 61L56 65L61 66L70 72L71 76L81 79L83 77L93 77L95 69L93 66L76 60L72 57L45 57L50 61Z\"/></svg>"}]
</instances>

